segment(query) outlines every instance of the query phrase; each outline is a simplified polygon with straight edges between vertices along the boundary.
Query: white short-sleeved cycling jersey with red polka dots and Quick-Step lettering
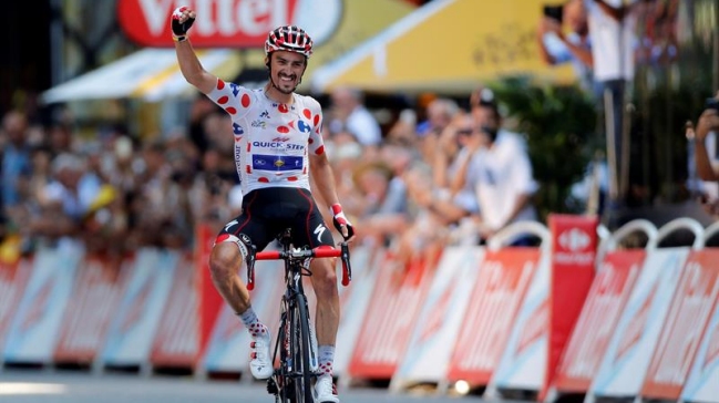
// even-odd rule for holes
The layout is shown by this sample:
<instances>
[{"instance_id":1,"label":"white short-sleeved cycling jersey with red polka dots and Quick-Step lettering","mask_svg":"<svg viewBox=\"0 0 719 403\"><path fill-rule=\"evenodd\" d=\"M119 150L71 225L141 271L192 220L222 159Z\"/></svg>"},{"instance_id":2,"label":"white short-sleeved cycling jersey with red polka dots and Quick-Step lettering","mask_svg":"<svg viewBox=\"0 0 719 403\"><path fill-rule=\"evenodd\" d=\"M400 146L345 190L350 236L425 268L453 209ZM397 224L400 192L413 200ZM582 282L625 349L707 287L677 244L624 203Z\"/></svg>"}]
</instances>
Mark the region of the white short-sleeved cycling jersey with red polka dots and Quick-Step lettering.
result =
<instances>
[{"instance_id":1,"label":"white short-sleeved cycling jersey with red polka dots and Quick-Step lettering","mask_svg":"<svg viewBox=\"0 0 719 403\"><path fill-rule=\"evenodd\" d=\"M308 153L325 152L322 110L311 96L292 94L290 105L217 80L207 94L233 120L235 167L243 194L265 187L309 189Z\"/></svg>"}]
</instances>

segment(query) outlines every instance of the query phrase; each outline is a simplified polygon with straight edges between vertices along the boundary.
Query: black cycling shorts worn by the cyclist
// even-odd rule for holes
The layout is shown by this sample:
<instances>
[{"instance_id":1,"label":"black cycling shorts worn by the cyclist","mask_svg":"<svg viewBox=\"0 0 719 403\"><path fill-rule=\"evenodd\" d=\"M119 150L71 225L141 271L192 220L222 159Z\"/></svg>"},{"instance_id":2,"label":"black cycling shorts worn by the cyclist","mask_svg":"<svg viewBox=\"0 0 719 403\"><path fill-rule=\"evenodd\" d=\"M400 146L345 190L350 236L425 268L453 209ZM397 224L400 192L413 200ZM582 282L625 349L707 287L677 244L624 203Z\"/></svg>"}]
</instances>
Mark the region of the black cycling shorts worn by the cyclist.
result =
<instances>
[{"instance_id":1,"label":"black cycling shorts worn by the cyclist","mask_svg":"<svg viewBox=\"0 0 719 403\"><path fill-rule=\"evenodd\" d=\"M291 228L296 248L335 245L310 192L296 187L268 187L245 195L243 213L225 225L217 241L226 240L228 235L239 239L246 235L260 251L286 228Z\"/></svg>"}]
</instances>

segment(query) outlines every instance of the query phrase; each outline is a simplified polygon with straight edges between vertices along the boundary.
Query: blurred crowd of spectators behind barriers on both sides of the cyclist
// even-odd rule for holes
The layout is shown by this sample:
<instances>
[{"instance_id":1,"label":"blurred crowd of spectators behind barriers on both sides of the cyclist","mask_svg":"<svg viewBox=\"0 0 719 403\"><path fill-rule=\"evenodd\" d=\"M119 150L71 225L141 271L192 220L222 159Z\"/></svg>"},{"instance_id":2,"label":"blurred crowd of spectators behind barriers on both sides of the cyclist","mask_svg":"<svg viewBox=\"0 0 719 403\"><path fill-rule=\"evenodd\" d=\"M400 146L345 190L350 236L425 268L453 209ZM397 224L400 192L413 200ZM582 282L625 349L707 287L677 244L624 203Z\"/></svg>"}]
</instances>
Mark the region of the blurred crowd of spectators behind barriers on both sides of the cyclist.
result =
<instances>
[{"instance_id":1,"label":"blurred crowd of spectators behind barriers on both sides of the cyclist","mask_svg":"<svg viewBox=\"0 0 719 403\"><path fill-rule=\"evenodd\" d=\"M483 93L483 101L479 92L466 100L469 108L433 95L384 127L360 91L330 94L323 136L360 244L389 246L409 261L445 242L481 242L516 218L533 219L482 206L479 184L489 178L516 185L509 175L522 164L507 159L496 165L501 176L482 179L470 172L482 170L472 168L481 165L475 159L493 154L516 161L516 153L526 152L521 136L501 127L491 91ZM489 114L482 112L487 107ZM497 152L483 154L493 147L486 133L494 133ZM72 122L45 127L10 111L0 131L4 256L68 241L114 257L145 246L192 248L199 223L216 230L242 206L233 142L229 117L199 95L186 125L148 138L122 128L81 138ZM505 144L511 148L503 152ZM522 169L525 187L499 195L510 209L514 198L533 190L531 165ZM495 185L503 186L483 186Z\"/></svg>"}]
</instances>

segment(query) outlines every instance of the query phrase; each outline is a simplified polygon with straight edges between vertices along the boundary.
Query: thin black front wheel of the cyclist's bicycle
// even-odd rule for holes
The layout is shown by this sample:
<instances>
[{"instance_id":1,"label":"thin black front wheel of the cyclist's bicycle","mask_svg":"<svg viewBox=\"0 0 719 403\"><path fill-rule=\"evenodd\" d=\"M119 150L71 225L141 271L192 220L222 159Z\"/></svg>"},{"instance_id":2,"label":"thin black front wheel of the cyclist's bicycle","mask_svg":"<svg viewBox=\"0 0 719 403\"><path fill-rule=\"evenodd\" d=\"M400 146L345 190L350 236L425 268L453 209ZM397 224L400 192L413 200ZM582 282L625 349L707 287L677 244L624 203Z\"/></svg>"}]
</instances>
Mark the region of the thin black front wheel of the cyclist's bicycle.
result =
<instances>
[{"instance_id":1,"label":"thin black front wheel of the cyclist's bicycle","mask_svg":"<svg viewBox=\"0 0 719 403\"><path fill-rule=\"evenodd\" d=\"M309 314L307 311L307 299L304 294L296 294L294 300L288 303L287 317L288 326L286 344L287 358L291 368L288 368L287 374L291 380L287 383L288 401L291 403L314 403L312 396L312 373L310 365L310 333L309 333Z\"/></svg>"}]
</instances>

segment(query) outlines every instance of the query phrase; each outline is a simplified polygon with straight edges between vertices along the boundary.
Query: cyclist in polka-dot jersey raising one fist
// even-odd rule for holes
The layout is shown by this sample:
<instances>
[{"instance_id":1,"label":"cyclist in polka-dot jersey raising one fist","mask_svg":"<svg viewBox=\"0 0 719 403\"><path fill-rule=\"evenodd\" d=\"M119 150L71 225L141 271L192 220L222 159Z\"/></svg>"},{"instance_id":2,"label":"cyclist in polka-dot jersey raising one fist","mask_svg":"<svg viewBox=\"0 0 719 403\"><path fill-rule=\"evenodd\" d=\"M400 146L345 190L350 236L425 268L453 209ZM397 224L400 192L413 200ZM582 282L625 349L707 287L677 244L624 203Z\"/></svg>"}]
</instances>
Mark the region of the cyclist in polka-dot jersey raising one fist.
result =
<instances>
[{"instance_id":1,"label":"cyclist in polka-dot jersey raising one fist","mask_svg":"<svg viewBox=\"0 0 719 403\"><path fill-rule=\"evenodd\" d=\"M310 193L310 175L318 196L330 206L335 227L342 237L351 240L355 230L342 213L325 154L321 106L315 99L295 93L312 53L312 40L294 25L269 32L265 42L268 83L263 89L248 90L226 83L203 69L187 37L195 18L195 11L187 7L177 8L172 14L177 61L187 82L232 116L235 165L244 194L240 215L227 223L215 240L209 268L215 288L251 335L253 376L268 379L274 371L269 331L253 311L238 270L250 245L263 250L289 226L295 246L332 247L332 235ZM316 259L310 268L317 296L315 322L320 365L315 385L317 401L339 402L332 380L339 327L335 259Z\"/></svg>"}]
</instances>

